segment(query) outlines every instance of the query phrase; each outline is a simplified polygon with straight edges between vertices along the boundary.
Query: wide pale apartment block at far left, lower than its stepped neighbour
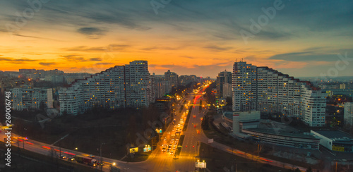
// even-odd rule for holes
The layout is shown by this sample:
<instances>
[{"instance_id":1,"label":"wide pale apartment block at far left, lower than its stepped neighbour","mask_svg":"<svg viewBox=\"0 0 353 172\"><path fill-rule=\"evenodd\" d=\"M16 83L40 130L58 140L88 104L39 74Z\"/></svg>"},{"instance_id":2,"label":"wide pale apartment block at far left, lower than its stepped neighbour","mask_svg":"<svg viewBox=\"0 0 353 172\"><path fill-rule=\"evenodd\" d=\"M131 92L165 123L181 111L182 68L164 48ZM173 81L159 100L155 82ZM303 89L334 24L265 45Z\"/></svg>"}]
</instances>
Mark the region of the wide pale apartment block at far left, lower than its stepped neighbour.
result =
<instances>
[{"instance_id":1,"label":"wide pale apartment block at far left, lower than its stepped neighbour","mask_svg":"<svg viewBox=\"0 0 353 172\"><path fill-rule=\"evenodd\" d=\"M48 107L53 104L51 88L16 87L10 91L13 110L16 111L40 109L40 104L46 104Z\"/></svg>"}]
</instances>

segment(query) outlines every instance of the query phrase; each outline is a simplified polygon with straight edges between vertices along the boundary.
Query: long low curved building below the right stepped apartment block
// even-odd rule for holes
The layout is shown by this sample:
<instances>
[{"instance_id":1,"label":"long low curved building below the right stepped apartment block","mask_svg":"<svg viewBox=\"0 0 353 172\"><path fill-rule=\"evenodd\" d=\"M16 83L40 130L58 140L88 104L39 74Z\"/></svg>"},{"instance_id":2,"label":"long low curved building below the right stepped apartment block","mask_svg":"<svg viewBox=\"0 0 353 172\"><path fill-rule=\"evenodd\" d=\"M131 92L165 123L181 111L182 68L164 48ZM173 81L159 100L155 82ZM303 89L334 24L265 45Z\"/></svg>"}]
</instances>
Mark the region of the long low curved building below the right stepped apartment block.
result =
<instances>
[{"instance_id":1,"label":"long low curved building below the right stepped apartment block","mask_svg":"<svg viewBox=\"0 0 353 172\"><path fill-rule=\"evenodd\" d=\"M232 126L232 134L242 139L273 145L318 149L320 139L310 133L284 128L280 123L260 119L260 111L230 111L223 113L225 127Z\"/></svg>"}]
</instances>

